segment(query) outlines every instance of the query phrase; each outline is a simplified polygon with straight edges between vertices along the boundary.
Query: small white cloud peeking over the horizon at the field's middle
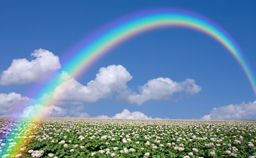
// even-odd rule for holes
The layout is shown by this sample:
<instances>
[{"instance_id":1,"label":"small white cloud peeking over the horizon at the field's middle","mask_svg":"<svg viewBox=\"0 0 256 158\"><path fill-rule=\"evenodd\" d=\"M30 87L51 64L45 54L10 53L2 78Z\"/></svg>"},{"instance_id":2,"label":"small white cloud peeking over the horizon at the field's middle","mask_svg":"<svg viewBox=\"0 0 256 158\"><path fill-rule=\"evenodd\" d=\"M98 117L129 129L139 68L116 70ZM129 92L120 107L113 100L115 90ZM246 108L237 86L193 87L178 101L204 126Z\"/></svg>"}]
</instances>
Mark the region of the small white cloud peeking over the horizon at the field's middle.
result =
<instances>
[{"instance_id":1,"label":"small white cloud peeking over the horizon at the field's middle","mask_svg":"<svg viewBox=\"0 0 256 158\"><path fill-rule=\"evenodd\" d=\"M152 119L139 111L130 112L128 109L123 109L121 113L115 114L113 117L108 117L107 115L100 115L96 118L100 119Z\"/></svg>"}]
</instances>

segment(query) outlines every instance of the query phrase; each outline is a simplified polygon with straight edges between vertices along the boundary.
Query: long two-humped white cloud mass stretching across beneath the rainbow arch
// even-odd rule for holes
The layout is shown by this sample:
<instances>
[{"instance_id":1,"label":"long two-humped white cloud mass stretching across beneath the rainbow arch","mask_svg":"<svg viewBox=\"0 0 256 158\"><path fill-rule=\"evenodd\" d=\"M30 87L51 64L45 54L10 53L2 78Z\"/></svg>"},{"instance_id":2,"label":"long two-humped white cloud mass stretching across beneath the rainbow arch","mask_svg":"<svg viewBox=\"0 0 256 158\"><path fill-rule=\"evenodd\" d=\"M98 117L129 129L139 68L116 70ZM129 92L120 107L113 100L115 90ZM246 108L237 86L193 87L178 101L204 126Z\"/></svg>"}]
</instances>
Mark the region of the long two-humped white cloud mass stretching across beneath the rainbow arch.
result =
<instances>
[{"instance_id":1,"label":"long two-humped white cloud mass stretching across beneath the rainbow arch","mask_svg":"<svg viewBox=\"0 0 256 158\"><path fill-rule=\"evenodd\" d=\"M174 93L178 92L194 94L201 91L201 87L192 79L174 82L170 78L156 78L139 86L139 93L136 93L127 87L127 82L133 77L121 65L100 68L95 80L88 82L86 86L70 78L65 72L62 75L65 76L63 78L69 79L58 86L53 93L53 97L59 104L89 103L117 96L117 100L124 103L141 105L150 99L170 99Z\"/></svg>"}]
</instances>

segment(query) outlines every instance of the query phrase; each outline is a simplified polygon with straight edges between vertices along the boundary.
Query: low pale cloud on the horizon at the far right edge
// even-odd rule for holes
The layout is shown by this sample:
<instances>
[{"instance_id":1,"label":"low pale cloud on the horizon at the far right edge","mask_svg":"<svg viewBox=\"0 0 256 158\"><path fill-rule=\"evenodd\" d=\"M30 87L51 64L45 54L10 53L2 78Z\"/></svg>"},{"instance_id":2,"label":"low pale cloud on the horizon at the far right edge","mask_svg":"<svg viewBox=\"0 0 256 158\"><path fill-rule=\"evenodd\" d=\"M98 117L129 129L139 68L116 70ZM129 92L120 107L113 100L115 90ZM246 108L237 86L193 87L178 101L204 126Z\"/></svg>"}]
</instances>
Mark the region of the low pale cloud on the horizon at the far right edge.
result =
<instances>
[{"instance_id":1,"label":"low pale cloud on the horizon at the far right edge","mask_svg":"<svg viewBox=\"0 0 256 158\"><path fill-rule=\"evenodd\" d=\"M203 120L238 120L250 119L256 116L256 101L241 104L230 104L213 108L210 114L203 116Z\"/></svg>"}]
</instances>

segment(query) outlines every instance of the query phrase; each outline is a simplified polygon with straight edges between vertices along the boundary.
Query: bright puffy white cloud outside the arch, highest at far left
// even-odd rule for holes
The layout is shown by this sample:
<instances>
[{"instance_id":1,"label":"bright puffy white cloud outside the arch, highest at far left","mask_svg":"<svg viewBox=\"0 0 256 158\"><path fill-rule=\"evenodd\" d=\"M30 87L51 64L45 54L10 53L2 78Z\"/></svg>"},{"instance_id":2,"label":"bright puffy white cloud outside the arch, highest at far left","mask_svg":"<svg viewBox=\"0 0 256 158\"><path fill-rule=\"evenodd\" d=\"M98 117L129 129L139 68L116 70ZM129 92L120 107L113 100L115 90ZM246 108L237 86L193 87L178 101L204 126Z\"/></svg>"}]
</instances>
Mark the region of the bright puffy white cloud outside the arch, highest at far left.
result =
<instances>
[{"instance_id":1,"label":"bright puffy white cloud outside the arch, highest at far left","mask_svg":"<svg viewBox=\"0 0 256 158\"><path fill-rule=\"evenodd\" d=\"M37 49L31 53L32 61L27 59L13 59L13 63L1 74L0 84L28 84L43 80L46 72L52 72L61 68L59 57L53 53Z\"/></svg>"}]
</instances>

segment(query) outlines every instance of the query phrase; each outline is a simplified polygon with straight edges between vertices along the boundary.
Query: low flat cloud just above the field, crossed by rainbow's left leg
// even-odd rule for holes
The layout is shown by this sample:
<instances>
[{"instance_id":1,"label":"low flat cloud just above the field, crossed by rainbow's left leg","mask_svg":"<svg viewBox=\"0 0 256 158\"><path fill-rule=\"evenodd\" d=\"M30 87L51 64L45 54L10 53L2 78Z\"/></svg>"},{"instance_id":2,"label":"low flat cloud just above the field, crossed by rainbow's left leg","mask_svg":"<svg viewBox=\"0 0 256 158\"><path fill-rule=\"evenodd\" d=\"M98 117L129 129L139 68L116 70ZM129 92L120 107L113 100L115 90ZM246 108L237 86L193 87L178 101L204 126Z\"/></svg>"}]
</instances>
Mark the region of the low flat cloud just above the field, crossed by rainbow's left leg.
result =
<instances>
[{"instance_id":1,"label":"low flat cloud just above the field, crossed by rainbow's left leg","mask_svg":"<svg viewBox=\"0 0 256 158\"><path fill-rule=\"evenodd\" d=\"M30 105L26 107L21 117L90 117L86 112L83 112L82 105L70 108L61 108L55 105L43 107L42 105Z\"/></svg>"}]
</instances>

